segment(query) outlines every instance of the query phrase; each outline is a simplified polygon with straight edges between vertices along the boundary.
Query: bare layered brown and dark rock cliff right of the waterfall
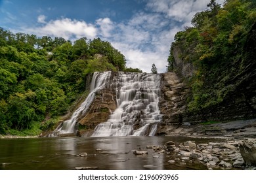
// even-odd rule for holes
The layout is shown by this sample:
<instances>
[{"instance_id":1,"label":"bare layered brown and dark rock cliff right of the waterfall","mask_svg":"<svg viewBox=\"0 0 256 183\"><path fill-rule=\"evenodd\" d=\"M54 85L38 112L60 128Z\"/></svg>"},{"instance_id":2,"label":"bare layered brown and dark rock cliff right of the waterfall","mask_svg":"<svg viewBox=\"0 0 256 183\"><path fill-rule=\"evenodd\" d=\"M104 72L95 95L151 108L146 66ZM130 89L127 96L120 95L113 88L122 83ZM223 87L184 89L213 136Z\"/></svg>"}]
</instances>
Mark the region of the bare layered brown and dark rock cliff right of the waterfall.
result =
<instances>
[{"instance_id":1,"label":"bare layered brown and dark rock cliff right of the waterfall","mask_svg":"<svg viewBox=\"0 0 256 183\"><path fill-rule=\"evenodd\" d=\"M236 119L255 118L256 116L256 24L247 35L244 52L239 60L229 64L223 63L215 75L204 71L203 88L213 89L221 93L222 101L216 102L202 110L188 109L188 96L192 93L190 78L196 72L192 63L184 61L179 56L182 49L179 44L173 46L173 73L163 74L163 92L160 106L165 123L179 124L181 122L206 122L211 120L228 121ZM235 52L235 50L234 50ZM219 73L218 73L219 72ZM208 76L212 75L212 76ZM183 81L183 83L181 82ZM188 82L188 80L190 80ZM213 101L214 102L214 101ZM203 105L203 104L202 104Z\"/></svg>"}]
</instances>

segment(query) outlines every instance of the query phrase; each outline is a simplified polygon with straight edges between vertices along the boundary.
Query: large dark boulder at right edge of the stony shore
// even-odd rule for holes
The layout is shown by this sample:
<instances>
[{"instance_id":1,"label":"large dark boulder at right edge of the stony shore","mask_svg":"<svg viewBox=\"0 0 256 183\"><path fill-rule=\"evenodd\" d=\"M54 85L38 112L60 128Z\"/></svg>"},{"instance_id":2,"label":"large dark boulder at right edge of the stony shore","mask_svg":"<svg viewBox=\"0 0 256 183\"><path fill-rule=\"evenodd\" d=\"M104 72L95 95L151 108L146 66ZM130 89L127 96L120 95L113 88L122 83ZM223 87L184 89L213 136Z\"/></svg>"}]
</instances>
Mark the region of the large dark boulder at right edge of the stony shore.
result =
<instances>
[{"instance_id":1,"label":"large dark boulder at right edge of the stony shore","mask_svg":"<svg viewBox=\"0 0 256 183\"><path fill-rule=\"evenodd\" d=\"M240 153L246 165L256 165L256 142L242 141L239 144Z\"/></svg>"}]
</instances>

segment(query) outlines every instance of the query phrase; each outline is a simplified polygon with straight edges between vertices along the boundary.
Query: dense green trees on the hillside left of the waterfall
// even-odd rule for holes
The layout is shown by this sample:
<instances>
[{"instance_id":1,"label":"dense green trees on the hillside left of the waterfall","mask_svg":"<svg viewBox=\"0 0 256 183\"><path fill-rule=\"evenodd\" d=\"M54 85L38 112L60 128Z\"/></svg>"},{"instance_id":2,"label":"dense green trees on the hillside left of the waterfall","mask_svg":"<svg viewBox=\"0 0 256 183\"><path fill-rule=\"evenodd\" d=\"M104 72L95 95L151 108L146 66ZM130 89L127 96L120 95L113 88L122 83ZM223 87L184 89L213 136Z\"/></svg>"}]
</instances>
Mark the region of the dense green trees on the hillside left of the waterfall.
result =
<instances>
[{"instance_id":1,"label":"dense green trees on the hillside left of the waterfall","mask_svg":"<svg viewBox=\"0 0 256 183\"><path fill-rule=\"evenodd\" d=\"M2 28L0 63L2 134L38 128L65 114L88 89L87 74L127 69L123 54L99 38L87 41L84 37L72 44L59 37L39 38Z\"/></svg>"}]
</instances>

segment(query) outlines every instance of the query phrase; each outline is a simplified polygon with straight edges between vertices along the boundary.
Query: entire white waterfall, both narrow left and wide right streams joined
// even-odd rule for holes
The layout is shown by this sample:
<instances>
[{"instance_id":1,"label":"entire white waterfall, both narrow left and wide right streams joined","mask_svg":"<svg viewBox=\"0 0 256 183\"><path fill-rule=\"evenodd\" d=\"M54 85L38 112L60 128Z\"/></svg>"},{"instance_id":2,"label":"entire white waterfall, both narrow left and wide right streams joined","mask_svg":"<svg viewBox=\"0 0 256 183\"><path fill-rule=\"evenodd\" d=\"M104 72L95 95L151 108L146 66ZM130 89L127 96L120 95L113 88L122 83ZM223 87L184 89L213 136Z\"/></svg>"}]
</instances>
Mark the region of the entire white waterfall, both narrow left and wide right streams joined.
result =
<instances>
[{"instance_id":1,"label":"entire white waterfall, both narrow left and wide right streams joined","mask_svg":"<svg viewBox=\"0 0 256 183\"><path fill-rule=\"evenodd\" d=\"M160 76L123 72L114 76L111 72L94 73L91 93L87 99L75 110L72 118L60 124L52 135L75 133L79 116L90 108L96 91L106 87L116 90L117 108L107 122L96 126L93 137L155 135L157 126L161 122L158 108Z\"/></svg>"}]
</instances>

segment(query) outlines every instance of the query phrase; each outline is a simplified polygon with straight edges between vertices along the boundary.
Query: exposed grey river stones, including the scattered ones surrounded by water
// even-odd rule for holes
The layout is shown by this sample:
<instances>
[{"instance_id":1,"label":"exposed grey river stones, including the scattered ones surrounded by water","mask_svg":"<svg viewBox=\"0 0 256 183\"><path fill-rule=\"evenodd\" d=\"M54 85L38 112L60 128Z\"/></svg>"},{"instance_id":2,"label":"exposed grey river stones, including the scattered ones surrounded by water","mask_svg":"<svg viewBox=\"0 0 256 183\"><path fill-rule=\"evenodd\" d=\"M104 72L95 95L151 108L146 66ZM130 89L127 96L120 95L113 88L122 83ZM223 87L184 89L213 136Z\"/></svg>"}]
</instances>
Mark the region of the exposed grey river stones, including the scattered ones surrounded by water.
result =
<instances>
[{"instance_id":1,"label":"exposed grey river stones, including the scattered ones surrounded by water","mask_svg":"<svg viewBox=\"0 0 256 183\"><path fill-rule=\"evenodd\" d=\"M93 156L100 156L104 150L95 150ZM256 141L255 139L230 139L222 142L205 142L196 144L193 141L174 142L165 144L148 144L140 146L125 154L133 154L133 157L119 159L120 163L130 159L140 159L143 156L161 159L165 169L256 169ZM106 155L106 154L104 154ZM76 156L92 156L86 152ZM145 169L156 169L156 165L144 165ZM75 167L74 169L100 169L100 167Z\"/></svg>"}]
</instances>

